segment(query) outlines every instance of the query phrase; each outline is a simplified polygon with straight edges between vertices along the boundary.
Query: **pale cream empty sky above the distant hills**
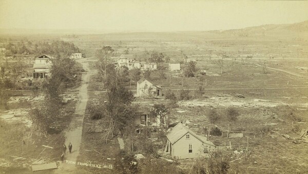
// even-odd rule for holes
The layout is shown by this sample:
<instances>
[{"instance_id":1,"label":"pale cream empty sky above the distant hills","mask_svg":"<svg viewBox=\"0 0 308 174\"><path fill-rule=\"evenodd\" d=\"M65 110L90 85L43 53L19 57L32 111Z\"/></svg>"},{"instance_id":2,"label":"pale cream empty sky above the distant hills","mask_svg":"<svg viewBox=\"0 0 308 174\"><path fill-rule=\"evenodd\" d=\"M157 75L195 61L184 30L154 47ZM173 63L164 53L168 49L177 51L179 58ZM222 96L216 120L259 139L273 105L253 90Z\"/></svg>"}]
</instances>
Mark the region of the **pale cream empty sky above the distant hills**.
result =
<instances>
[{"instance_id":1,"label":"pale cream empty sky above the distant hills","mask_svg":"<svg viewBox=\"0 0 308 174\"><path fill-rule=\"evenodd\" d=\"M0 0L0 28L226 30L308 20L308 1Z\"/></svg>"}]
</instances>

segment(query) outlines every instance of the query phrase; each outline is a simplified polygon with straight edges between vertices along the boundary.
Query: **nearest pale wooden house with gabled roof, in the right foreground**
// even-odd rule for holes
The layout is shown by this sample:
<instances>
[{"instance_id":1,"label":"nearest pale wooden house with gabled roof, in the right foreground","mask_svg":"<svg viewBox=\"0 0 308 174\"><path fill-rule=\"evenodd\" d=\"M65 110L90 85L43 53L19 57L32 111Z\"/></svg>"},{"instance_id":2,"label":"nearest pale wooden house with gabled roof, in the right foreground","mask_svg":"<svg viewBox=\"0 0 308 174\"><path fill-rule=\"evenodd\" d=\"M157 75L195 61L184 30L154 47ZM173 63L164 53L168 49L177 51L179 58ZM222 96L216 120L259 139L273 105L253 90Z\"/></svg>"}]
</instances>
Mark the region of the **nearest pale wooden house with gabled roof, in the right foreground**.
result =
<instances>
[{"instance_id":1,"label":"nearest pale wooden house with gabled roof, in the right foreground","mask_svg":"<svg viewBox=\"0 0 308 174\"><path fill-rule=\"evenodd\" d=\"M172 158L208 158L208 152L216 148L206 137L197 135L182 123L173 127L166 136L168 141L165 151L170 153Z\"/></svg>"}]
</instances>

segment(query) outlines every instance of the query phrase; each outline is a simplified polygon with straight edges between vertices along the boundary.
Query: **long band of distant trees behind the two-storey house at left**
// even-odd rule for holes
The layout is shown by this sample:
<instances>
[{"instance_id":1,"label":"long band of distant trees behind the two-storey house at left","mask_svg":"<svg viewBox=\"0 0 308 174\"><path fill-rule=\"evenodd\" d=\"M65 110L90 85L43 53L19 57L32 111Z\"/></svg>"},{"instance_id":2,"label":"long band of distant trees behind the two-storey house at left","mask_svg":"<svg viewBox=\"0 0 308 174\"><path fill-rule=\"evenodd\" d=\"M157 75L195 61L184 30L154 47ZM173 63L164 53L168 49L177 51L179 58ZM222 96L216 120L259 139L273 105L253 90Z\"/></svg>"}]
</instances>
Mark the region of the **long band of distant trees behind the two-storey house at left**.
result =
<instances>
[{"instance_id":1,"label":"long band of distant trees behind the two-storey house at left","mask_svg":"<svg viewBox=\"0 0 308 174\"><path fill-rule=\"evenodd\" d=\"M51 43L47 41L37 42L32 44L31 41L28 42L17 42L17 44L12 44L9 42L5 46L6 52L5 56L16 56L17 54L50 54L55 57L66 57L70 56L72 53L79 52L79 48L73 43L56 40Z\"/></svg>"}]
</instances>

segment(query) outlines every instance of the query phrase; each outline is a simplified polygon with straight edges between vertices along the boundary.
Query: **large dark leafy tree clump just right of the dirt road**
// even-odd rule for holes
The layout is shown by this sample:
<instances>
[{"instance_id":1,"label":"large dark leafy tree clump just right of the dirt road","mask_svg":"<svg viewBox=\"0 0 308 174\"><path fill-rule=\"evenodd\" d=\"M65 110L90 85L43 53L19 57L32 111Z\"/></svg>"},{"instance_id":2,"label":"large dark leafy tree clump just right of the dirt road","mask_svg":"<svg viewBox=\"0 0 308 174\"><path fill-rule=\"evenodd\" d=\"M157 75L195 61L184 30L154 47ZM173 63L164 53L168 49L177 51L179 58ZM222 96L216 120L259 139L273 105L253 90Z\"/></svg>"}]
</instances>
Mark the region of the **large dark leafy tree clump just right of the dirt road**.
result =
<instances>
[{"instance_id":1,"label":"large dark leafy tree clump just right of the dirt road","mask_svg":"<svg viewBox=\"0 0 308 174\"><path fill-rule=\"evenodd\" d=\"M134 132L134 116L138 111L138 105L133 105L133 94L123 85L113 85L105 96L89 106L89 113L92 119L106 119L108 131L103 141L108 142L109 138L117 135L126 136Z\"/></svg>"}]
</instances>

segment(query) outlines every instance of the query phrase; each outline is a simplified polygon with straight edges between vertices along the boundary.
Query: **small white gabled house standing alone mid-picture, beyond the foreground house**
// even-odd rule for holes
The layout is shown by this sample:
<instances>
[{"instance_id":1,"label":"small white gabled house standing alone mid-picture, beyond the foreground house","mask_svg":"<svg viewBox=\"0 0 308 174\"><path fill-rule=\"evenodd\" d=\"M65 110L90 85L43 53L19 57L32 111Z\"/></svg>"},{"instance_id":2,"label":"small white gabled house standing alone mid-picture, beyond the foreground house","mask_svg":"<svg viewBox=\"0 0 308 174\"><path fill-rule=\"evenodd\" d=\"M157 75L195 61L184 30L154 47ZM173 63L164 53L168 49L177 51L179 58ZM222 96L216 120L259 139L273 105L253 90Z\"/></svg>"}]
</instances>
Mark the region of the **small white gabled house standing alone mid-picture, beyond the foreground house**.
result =
<instances>
[{"instance_id":1,"label":"small white gabled house standing alone mid-picture, beyond the foreground house","mask_svg":"<svg viewBox=\"0 0 308 174\"><path fill-rule=\"evenodd\" d=\"M162 95L161 90L162 88L144 78L137 82L137 97L158 97Z\"/></svg>"}]
</instances>

